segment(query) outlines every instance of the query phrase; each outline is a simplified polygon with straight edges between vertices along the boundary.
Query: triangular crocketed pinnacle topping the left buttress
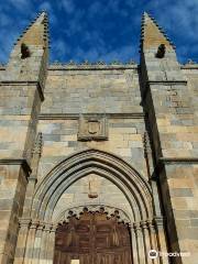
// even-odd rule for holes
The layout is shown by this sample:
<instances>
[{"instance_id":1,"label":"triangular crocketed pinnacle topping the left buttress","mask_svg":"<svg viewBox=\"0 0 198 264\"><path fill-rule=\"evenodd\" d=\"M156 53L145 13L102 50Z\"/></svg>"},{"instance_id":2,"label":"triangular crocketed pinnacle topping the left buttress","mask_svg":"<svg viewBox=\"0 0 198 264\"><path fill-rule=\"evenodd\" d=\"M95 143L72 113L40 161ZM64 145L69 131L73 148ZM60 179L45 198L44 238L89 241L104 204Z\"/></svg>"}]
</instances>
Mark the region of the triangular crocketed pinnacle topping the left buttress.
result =
<instances>
[{"instance_id":1,"label":"triangular crocketed pinnacle topping the left buttress","mask_svg":"<svg viewBox=\"0 0 198 264\"><path fill-rule=\"evenodd\" d=\"M23 31L16 40L15 45L25 43L26 45L48 46L48 18L45 11L42 11Z\"/></svg>"}]
</instances>

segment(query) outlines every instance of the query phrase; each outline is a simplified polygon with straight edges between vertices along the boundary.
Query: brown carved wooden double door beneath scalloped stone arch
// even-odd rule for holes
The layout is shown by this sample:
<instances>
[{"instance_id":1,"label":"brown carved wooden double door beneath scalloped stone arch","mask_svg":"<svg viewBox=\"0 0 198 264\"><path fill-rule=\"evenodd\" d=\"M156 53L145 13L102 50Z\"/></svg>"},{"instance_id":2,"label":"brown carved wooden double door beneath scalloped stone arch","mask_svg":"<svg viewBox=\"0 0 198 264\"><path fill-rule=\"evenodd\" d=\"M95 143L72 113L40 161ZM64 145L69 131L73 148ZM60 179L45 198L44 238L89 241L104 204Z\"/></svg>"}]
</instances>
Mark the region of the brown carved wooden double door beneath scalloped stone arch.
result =
<instances>
[{"instance_id":1,"label":"brown carved wooden double door beneath scalloped stone arch","mask_svg":"<svg viewBox=\"0 0 198 264\"><path fill-rule=\"evenodd\" d=\"M76 261L75 261L76 260ZM131 264L131 240L119 212L110 217L101 208L86 208L79 219L70 212L69 221L58 227L54 264Z\"/></svg>"}]
</instances>

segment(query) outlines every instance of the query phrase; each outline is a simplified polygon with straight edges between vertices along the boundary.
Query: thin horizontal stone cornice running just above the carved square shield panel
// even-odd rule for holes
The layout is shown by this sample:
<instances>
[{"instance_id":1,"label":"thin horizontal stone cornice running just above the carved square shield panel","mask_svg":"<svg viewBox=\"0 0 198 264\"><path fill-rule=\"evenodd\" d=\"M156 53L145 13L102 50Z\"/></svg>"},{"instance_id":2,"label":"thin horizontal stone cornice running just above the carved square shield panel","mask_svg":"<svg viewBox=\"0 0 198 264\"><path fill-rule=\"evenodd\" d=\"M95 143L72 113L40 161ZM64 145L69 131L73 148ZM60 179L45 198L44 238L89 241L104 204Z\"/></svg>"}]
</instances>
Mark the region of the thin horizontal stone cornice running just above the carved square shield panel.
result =
<instances>
[{"instance_id":1,"label":"thin horizontal stone cornice running just above the carved square shield panel","mask_svg":"<svg viewBox=\"0 0 198 264\"><path fill-rule=\"evenodd\" d=\"M131 112L131 113L85 113L84 116L105 116L112 119L143 119L144 112ZM80 113L41 113L40 120L78 120Z\"/></svg>"}]
</instances>

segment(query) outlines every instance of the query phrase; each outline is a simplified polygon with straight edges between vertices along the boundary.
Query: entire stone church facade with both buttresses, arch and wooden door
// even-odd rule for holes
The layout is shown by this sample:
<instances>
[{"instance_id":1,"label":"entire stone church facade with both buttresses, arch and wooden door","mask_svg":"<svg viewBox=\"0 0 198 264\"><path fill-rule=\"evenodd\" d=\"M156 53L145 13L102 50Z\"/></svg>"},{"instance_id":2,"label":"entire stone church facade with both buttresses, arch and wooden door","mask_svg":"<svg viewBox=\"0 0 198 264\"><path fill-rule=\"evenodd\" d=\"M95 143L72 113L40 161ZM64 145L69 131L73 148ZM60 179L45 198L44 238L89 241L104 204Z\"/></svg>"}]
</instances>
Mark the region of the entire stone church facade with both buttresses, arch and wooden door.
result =
<instances>
[{"instance_id":1,"label":"entire stone church facade with both buttresses, arch and wooden door","mask_svg":"<svg viewBox=\"0 0 198 264\"><path fill-rule=\"evenodd\" d=\"M0 263L197 263L198 65L146 13L140 65L48 65L47 23L0 67Z\"/></svg>"}]
</instances>

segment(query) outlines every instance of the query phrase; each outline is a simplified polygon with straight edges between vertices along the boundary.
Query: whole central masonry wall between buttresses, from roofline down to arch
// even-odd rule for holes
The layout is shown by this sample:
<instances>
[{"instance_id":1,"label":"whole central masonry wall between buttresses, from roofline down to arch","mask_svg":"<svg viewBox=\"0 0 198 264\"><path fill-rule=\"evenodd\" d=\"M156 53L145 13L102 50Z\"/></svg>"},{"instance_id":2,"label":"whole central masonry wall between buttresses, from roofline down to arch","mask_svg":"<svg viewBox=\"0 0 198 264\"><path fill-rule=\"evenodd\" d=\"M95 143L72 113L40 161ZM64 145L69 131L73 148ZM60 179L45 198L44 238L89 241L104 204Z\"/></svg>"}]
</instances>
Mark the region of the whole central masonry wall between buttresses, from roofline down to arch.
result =
<instances>
[{"instance_id":1,"label":"whole central masonry wall between buttresses, from roofline down to arch","mask_svg":"<svg viewBox=\"0 0 198 264\"><path fill-rule=\"evenodd\" d=\"M134 66L100 70L51 67L37 127L37 132L43 134L38 178L44 177L67 155L86 147L114 153L147 177L142 141L145 125L140 103L139 76ZM70 118L69 113L76 116ZM81 113L107 114L107 141L77 140Z\"/></svg>"}]
</instances>

